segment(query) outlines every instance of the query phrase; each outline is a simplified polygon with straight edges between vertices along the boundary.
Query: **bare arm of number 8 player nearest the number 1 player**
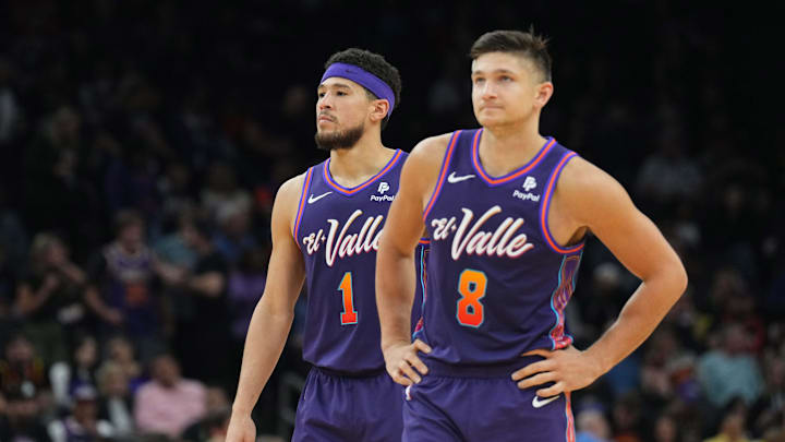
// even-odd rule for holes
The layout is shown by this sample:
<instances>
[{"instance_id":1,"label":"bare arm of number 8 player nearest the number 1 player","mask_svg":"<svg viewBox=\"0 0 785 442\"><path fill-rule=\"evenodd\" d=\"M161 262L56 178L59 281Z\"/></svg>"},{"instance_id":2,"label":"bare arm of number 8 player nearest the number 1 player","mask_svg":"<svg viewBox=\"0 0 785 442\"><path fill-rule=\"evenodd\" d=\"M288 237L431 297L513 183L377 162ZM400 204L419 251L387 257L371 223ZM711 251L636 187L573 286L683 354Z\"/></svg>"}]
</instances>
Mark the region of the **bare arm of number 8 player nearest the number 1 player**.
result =
<instances>
[{"instance_id":1,"label":"bare arm of number 8 player nearest the number 1 player","mask_svg":"<svg viewBox=\"0 0 785 442\"><path fill-rule=\"evenodd\" d=\"M400 189L385 224L376 253L376 306L387 372L399 384L420 382L427 368L416 356L431 351L409 336L414 299L414 249L422 236L423 208L436 186L449 134L423 140L401 171ZM416 369L416 370L415 370ZM419 372L419 373L418 373Z\"/></svg>"}]
</instances>

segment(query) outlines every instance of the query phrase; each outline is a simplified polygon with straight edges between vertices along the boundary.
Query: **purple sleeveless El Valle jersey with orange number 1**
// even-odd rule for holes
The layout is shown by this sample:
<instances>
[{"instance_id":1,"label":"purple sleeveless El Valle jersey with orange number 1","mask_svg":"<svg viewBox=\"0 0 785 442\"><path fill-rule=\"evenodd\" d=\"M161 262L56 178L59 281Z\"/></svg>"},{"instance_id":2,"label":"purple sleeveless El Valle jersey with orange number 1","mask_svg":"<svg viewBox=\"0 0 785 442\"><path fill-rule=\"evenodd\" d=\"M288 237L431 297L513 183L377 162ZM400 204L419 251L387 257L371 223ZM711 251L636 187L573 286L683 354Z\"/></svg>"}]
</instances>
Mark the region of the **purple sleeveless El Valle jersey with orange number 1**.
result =
<instances>
[{"instance_id":1,"label":"purple sleeveless El Valle jersey with orange number 1","mask_svg":"<svg viewBox=\"0 0 785 442\"><path fill-rule=\"evenodd\" d=\"M384 369L376 250L406 157L396 151L378 174L354 188L333 179L329 159L305 174L293 235L306 273L303 358L314 366L348 373Z\"/></svg>"}]
</instances>

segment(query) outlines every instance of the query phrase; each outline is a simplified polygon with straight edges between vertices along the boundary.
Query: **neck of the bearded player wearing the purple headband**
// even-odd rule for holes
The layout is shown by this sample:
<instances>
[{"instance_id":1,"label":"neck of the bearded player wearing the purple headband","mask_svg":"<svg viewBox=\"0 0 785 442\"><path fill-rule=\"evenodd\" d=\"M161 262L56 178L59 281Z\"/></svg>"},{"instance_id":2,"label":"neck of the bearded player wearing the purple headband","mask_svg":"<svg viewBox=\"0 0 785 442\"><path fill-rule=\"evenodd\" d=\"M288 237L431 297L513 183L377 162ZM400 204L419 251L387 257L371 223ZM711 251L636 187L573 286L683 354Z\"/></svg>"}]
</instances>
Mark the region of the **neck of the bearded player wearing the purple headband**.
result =
<instances>
[{"instance_id":1,"label":"neck of the bearded player wearing the purple headband","mask_svg":"<svg viewBox=\"0 0 785 442\"><path fill-rule=\"evenodd\" d=\"M385 147L382 140L365 133L351 148L330 151L329 171L339 184L353 188L378 174L395 155L395 150Z\"/></svg>"}]
</instances>

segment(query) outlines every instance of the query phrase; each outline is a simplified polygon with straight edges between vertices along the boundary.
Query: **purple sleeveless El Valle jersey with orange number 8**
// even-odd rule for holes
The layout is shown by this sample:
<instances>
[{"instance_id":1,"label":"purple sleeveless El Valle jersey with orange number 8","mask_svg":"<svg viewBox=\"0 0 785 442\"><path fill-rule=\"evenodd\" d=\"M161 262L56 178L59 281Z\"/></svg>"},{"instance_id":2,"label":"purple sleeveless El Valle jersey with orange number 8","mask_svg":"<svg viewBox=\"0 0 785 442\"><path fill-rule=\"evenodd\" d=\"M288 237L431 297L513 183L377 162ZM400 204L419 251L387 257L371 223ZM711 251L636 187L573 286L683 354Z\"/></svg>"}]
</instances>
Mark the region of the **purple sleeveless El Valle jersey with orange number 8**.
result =
<instances>
[{"instance_id":1,"label":"purple sleeveless El Valle jersey with orange number 8","mask_svg":"<svg viewBox=\"0 0 785 442\"><path fill-rule=\"evenodd\" d=\"M515 363L572 342L565 308L583 241L559 247L547 216L576 153L550 138L527 165L491 177L480 163L482 132L452 134L423 214L431 246L419 337L445 363Z\"/></svg>"}]
</instances>

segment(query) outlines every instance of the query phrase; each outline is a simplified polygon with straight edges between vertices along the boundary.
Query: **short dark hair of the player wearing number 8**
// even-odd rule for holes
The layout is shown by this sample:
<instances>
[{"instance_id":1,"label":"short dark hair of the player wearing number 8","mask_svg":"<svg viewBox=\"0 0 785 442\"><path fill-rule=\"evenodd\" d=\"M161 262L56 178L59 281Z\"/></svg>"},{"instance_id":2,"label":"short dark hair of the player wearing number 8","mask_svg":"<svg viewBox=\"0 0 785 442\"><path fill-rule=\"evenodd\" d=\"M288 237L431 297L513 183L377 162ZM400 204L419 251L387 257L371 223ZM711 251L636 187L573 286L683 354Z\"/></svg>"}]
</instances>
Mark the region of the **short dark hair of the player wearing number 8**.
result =
<instances>
[{"instance_id":1,"label":"short dark hair of the player wearing number 8","mask_svg":"<svg viewBox=\"0 0 785 442\"><path fill-rule=\"evenodd\" d=\"M478 38L469 51L469 57L478 57L488 52L512 52L521 55L534 63L542 73L544 81L551 81L551 55L547 51L548 39L534 33L521 31L492 31Z\"/></svg>"}]
</instances>

